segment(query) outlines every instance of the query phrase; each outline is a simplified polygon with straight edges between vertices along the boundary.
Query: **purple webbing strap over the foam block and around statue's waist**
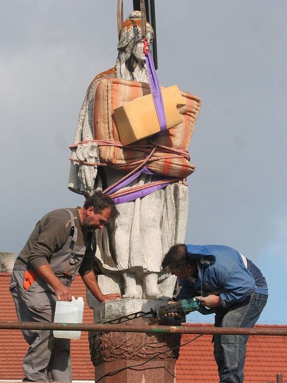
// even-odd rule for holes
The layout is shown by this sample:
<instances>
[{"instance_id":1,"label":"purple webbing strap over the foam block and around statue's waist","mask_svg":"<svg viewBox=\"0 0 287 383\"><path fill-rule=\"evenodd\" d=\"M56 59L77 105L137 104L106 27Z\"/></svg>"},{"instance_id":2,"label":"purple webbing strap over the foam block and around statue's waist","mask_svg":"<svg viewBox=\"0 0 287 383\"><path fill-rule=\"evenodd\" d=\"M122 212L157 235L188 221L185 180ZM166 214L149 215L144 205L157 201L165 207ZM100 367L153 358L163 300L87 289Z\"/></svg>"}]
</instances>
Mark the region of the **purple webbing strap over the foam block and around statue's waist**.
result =
<instances>
[{"instance_id":1,"label":"purple webbing strap over the foam block and around statue's waist","mask_svg":"<svg viewBox=\"0 0 287 383\"><path fill-rule=\"evenodd\" d=\"M157 75L155 72L154 63L153 63L153 59L152 59L150 51L148 51L147 56L145 56L145 64L146 64L146 71L147 71L147 77L148 77L148 82L149 82L149 86L150 86L150 91L152 94L152 99L153 99L154 107L156 110L156 114L157 114L157 118L158 118L158 122L159 122L159 126L160 126L160 133L159 134L162 134L166 131L166 118L165 118L165 113L164 113L164 108L163 108L162 94L161 94L158 78L157 78ZM130 177L126 178L126 180L122 181L120 184L118 184L117 186L115 186L114 188L109 190L109 192L107 192L107 194L110 195L110 194L117 192L118 190L120 190L122 188L125 188L132 181L136 180L136 178L138 178L142 173L156 174L156 173L152 172L151 170L147 169L146 166L144 165L142 169L138 170L138 172L132 174ZM130 201L133 201L134 199L141 198L147 194L155 192L156 190L165 188L169 184L170 183L167 182L166 184L150 186L149 188L146 188L146 189L143 189L140 191L130 192L129 194L115 197L114 201L116 204L130 202Z\"/></svg>"}]
</instances>

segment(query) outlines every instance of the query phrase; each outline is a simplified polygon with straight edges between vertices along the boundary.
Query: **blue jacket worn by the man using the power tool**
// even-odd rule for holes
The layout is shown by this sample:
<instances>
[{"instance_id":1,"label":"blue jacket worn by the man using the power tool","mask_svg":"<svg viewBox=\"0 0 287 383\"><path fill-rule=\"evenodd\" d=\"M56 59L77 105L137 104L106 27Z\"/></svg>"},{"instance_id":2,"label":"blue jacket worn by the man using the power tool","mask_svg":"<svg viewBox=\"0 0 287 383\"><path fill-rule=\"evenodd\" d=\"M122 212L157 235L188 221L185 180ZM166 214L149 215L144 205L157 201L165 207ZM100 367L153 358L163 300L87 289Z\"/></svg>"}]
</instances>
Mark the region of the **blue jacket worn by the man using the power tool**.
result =
<instances>
[{"instance_id":1,"label":"blue jacket worn by the man using the power tool","mask_svg":"<svg viewBox=\"0 0 287 383\"><path fill-rule=\"evenodd\" d=\"M179 280L182 287L177 300L213 293L220 295L223 307L228 307L243 301L256 290L254 276L237 250L222 245L186 245L186 249L188 257L196 260L198 277ZM267 289L262 274L261 277Z\"/></svg>"}]
</instances>

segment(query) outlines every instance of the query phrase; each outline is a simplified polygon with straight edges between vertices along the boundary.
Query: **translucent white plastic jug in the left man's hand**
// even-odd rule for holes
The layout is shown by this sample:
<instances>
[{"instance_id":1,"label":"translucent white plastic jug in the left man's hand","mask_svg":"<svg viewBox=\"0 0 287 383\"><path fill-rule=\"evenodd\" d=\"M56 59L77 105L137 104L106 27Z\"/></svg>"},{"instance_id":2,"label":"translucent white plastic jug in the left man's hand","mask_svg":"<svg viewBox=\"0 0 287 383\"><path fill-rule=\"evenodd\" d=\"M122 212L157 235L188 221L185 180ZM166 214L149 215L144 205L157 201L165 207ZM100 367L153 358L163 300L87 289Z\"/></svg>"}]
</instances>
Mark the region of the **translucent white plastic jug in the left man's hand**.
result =
<instances>
[{"instance_id":1,"label":"translucent white plastic jug in the left man's hand","mask_svg":"<svg viewBox=\"0 0 287 383\"><path fill-rule=\"evenodd\" d=\"M71 302L57 301L54 323L83 323L84 299L72 297ZM80 339L81 331L53 330L55 338Z\"/></svg>"}]
</instances>

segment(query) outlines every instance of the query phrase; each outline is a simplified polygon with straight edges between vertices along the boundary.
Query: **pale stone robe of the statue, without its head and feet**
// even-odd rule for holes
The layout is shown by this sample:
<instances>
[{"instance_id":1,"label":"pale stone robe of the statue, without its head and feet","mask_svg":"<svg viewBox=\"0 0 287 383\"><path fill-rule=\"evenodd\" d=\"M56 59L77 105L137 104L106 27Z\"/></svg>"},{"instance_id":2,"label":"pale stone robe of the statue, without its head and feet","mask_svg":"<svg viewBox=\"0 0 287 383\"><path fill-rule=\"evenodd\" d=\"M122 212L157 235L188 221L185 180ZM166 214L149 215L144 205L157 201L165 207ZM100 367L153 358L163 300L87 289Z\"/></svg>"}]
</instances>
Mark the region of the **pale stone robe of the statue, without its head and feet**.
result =
<instances>
[{"instance_id":1,"label":"pale stone robe of the statue, without its head and feet","mask_svg":"<svg viewBox=\"0 0 287 383\"><path fill-rule=\"evenodd\" d=\"M120 71L121 69L121 71ZM134 80L123 68L119 60L115 68L100 73L90 84L79 114L79 122L74 143L93 140L93 107L96 87L100 79L119 77ZM90 163L99 163L99 150L96 143L86 143L72 150L72 158ZM105 181L99 173L105 175ZM96 166L87 166L71 161L69 189L84 195L92 195L121 179L127 172ZM130 186L143 185L156 181L159 176L142 174ZM128 187L127 187L128 188ZM123 190L127 189L124 188ZM152 192L142 198L117 205L120 215L103 230L97 230L96 258L104 274L133 271L136 273L154 272L159 279L167 277L161 268L161 260L169 248L184 243L188 188L182 182L170 184L164 189Z\"/></svg>"}]
</instances>

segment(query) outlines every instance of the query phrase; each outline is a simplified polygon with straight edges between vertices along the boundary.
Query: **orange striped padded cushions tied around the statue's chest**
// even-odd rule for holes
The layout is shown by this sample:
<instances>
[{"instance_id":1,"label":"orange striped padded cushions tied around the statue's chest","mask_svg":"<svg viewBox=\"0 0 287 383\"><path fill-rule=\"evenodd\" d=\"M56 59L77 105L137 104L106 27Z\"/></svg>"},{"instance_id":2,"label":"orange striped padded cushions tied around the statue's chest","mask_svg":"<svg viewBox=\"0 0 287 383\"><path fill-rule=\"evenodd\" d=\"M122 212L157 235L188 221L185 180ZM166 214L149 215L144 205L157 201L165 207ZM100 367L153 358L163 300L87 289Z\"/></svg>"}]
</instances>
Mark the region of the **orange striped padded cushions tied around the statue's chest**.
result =
<instances>
[{"instance_id":1,"label":"orange striped padded cushions tied around the statue's chest","mask_svg":"<svg viewBox=\"0 0 287 383\"><path fill-rule=\"evenodd\" d=\"M195 167L189 163L188 148L200 110L200 98L181 91L186 104L179 109L182 123L168 129L161 136L151 136L123 146L118 134L114 109L150 93L149 84L119 78L99 81L94 101L94 140L98 143L102 165L132 171L155 148L146 167L160 175L184 179ZM78 143L73 147L82 144ZM72 148L72 147L71 147ZM86 165L99 165L89 164Z\"/></svg>"}]
</instances>

